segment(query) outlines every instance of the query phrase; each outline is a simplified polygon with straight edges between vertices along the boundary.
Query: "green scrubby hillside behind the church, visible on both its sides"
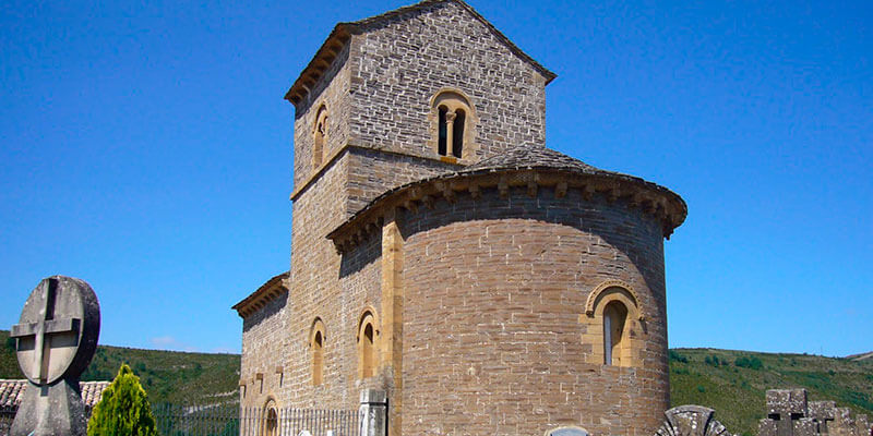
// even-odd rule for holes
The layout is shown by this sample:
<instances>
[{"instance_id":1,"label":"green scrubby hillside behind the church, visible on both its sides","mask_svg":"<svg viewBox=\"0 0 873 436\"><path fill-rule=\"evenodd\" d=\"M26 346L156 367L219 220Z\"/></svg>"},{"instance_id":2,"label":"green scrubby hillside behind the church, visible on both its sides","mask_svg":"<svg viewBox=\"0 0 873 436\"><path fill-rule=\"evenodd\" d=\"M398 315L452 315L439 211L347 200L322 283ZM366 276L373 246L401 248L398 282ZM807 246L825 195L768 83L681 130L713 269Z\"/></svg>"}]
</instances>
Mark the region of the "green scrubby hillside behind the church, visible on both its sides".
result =
<instances>
[{"instance_id":1,"label":"green scrubby hillside behind the church, visible on both its sides","mask_svg":"<svg viewBox=\"0 0 873 436\"><path fill-rule=\"evenodd\" d=\"M24 378L14 341L0 330L0 378ZM142 378L152 402L238 401L239 355L136 350L100 346L83 375L111 379L122 362ZM806 388L811 400L835 400L873 415L873 359L754 353L714 349L670 350L673 405L701 404L734 433L754 435L764 417L764 395L774 388Z\"/></svg>"}]
</instances>

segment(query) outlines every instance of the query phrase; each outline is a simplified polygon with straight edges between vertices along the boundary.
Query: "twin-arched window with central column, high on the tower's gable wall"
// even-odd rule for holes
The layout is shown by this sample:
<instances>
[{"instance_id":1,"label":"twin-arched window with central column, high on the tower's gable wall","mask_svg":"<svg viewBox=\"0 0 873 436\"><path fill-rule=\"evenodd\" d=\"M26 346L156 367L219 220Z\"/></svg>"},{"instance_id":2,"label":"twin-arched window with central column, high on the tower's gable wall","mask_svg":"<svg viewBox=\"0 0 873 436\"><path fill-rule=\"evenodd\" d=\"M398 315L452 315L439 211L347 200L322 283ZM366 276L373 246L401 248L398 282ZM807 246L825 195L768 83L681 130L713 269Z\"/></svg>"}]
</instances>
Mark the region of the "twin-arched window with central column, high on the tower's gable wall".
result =
<instances>
[{"instance_id":1,"label":"twin-arched window with central column, high on the tower's gable wall","mask_svg":"<svg viewBox=\"0 0 873 436\"><path fill-rule=\"evenodd\" d=\"M443 89L431 98L431 135L436 154L454 159L473 156L475 112L467 96Z\"/></svg>"}]
</instances>

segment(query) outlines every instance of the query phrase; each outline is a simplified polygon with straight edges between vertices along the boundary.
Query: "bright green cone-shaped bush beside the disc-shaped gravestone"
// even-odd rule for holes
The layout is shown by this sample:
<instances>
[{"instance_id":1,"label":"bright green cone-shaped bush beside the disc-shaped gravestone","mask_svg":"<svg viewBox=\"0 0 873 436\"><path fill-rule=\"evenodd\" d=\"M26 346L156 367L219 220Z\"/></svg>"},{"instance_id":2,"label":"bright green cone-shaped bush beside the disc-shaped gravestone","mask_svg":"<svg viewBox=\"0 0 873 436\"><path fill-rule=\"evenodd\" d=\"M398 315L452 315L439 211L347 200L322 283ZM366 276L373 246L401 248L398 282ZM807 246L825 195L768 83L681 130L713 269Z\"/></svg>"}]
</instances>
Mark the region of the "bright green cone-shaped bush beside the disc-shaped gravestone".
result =
<instances>
[{"instance_id":1,"label":"bright green cone-shaped bush beside the disc-shaped gravestone","mask_svg":"<svg viewBox=\"0 0 873 436\"><path fill-rule=\"evenodd\" d=\"M94 407L88 436L157 436L155 416L140 377L127 364L121 365Z\"/></svg>"}]
</instances>

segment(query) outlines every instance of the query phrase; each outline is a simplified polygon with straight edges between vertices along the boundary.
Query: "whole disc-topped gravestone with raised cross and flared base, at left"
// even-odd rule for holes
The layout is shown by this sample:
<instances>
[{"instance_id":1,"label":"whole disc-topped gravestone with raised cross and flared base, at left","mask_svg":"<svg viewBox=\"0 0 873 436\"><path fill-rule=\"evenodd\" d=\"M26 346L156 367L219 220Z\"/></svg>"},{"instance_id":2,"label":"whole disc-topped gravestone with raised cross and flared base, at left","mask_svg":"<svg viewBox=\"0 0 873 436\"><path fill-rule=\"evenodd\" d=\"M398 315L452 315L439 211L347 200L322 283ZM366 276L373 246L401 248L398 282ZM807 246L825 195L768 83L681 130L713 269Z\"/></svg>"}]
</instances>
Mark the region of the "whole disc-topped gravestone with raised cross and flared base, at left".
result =
<instances>
[{"instance_id":1,"label":"whole disc-topped gravestone with raised cross and flared base, at left","mask_svg":"<svg viewBox=\"0 0 873 436\"><path fill-rule=\"evenodd\" d=\"M55 276L31 292L10 331L29 382L10 436L86 434L79 377L94 356L99 332L100 307L88 283Z\"/></svg>"}]
</instances>

